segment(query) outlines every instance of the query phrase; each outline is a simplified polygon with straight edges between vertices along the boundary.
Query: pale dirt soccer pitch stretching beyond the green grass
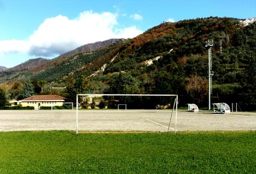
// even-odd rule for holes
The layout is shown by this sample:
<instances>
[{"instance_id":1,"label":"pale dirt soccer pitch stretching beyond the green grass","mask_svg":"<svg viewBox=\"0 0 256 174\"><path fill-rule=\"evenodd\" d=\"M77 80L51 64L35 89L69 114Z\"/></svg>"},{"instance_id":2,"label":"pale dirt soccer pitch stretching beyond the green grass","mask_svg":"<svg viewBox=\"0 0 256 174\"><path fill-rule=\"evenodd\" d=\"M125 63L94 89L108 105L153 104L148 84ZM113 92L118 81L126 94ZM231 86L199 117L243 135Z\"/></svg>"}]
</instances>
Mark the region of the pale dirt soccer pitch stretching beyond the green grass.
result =
<instances>
[{"instance_id":1,"label":"pale dirt soccer pitch stretching beyond the green grass","mask_svg":"<svg viewBox=\"0 0 256 174\"><path fill-rule=\"evenodd\" d=\"M79 110L79 131L152 131L166 132L172 110ZM175 128L173 112L170 131ZM0 111L0 131L76 130L76 111L24 110ZM178 111L177 131L243 131L256 130L256 113L238 112L226 115L209 111Z\"/></svg>"}]
</instances>

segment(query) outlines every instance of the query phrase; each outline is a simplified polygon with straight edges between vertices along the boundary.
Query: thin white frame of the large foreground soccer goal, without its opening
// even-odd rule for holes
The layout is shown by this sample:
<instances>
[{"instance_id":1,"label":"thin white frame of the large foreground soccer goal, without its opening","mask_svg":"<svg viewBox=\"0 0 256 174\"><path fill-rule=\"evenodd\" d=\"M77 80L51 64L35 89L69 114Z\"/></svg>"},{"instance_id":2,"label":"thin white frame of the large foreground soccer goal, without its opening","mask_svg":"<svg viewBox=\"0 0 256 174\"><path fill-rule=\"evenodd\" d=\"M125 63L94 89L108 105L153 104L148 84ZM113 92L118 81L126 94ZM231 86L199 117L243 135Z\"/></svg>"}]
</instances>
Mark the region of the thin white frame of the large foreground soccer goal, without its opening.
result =
<instances>
[{"instance_id":1,"label":"thin white frame of the large foreground soccer goal, without its opening","mask_svg":"<svg viewBox=\"0 0 256 174\"><path fill-rule=\"evenodd\" d=\"M174 132L176 134L177 132L177 113L178 113L178 95L175 94L93 94L93 93L87 93L87 94L77 94L76 95L76 134L78 134L78 97L79 96L93 96L93 97L103 97L103 96L141 96L141 97L176 97L175 102L173 104L173 109L175 107L175 128ZM170 123L172 120L172 116L170 117ZM169 128L170 128L169 123ZM168 131L169 131L168 128Z\"/></svg>"}]
</instances>

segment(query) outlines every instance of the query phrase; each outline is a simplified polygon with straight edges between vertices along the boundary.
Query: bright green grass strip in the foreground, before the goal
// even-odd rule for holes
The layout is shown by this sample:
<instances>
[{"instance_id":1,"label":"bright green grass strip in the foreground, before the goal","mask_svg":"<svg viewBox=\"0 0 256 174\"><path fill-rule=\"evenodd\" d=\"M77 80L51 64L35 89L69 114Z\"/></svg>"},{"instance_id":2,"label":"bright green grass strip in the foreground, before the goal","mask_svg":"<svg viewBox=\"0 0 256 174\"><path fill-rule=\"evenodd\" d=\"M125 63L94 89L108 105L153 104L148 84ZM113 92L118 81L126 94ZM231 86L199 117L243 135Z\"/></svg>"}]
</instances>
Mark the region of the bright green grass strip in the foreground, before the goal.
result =
<instances>
[{"instance_id":1,"label":"bright green grass strip in the foreground, before the goal","mask_svg":"<svg viewBox=\"0 0 256 174\"><path fill-rule=\"evenodd\" d=\"M0 132L0 173L256 173L256 132Z\"/></svg>"}]
</instances>

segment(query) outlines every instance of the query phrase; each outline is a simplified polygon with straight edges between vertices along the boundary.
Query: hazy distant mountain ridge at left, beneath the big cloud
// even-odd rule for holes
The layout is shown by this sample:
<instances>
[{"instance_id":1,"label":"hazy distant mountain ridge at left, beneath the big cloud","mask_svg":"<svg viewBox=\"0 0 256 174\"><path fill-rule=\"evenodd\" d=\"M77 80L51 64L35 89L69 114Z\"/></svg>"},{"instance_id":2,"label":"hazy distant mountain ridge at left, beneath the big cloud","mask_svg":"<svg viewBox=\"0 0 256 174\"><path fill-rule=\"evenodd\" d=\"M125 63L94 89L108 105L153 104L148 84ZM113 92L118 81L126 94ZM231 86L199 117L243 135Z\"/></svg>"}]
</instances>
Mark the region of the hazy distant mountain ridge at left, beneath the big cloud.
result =
<instances>
[{"instance_id":1,"label":"hazy distant mountain ridge at left, beneath the big cloud","mask_svg":"<svg viewBox=\"0 0 256 174\"><path fill-rule=\"evenodd\" d=\"M44 58L29 59L28 61L21 63L20 65L17 65L12 68L8 68L7 70L0 72L0 83L3 83L5 81L10 81L10 80L15 81L20 79L37 78L42 76L43 76L42 78L47 79L47 81L54 81L58 79L57 74L60 74L63 71L65 71L64 74L68 73L66 72L68 69L61 68L61 66L65 65L65 63L67 64L67 62L77 54L85 54L86 52L88 52L89 54L91 51L95 51L99 48L104 48L111 43L118 42L119 40L122 40L122 39L109 39L102 42L88 43L86 45L78 47L74 51L61 54L60 56L54 59L44 59ZM70 65L70 67L74 67L74 66ZM52 70L54 71L54 69L56 68L57 70L55 70L56 71L55 75L48 74L48 72L51 72ZM48 74L48 75L45 75L45 74ZM50 78L48 78L47 76Z\"/></svg>"}]
</instances>

